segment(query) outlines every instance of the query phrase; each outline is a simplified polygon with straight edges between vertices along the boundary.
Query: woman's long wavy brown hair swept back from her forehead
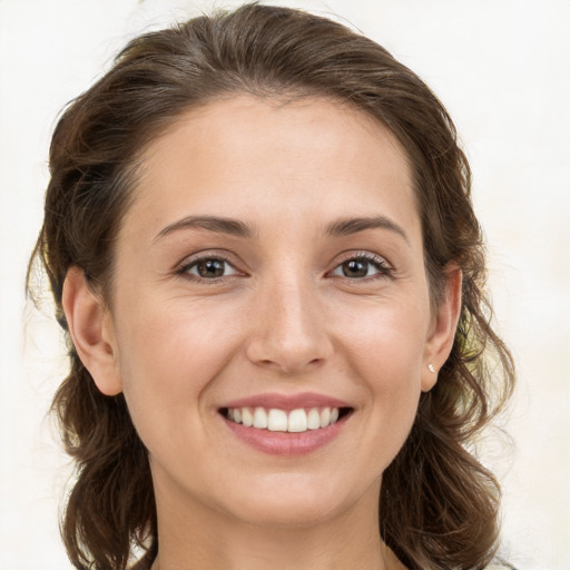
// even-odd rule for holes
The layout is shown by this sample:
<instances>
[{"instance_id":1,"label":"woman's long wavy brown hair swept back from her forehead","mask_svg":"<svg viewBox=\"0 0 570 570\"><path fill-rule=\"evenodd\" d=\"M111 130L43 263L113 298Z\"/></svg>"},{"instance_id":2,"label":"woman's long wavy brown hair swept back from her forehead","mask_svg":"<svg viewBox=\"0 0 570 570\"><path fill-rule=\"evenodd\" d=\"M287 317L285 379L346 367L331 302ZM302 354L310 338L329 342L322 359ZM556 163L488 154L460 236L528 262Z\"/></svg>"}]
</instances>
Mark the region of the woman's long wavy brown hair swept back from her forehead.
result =
<instances>
[{"instance_id":1,"label":"woman's long wavy brown hair swept back from her forehead","mask_svg":"<svg viewBox=\"0 0 570 570\"><path fill-rule=\"evenodd\" d=\"M309 13L247 4L132 41L110 71L62 115L50 148L46 216L30 267L49 276L57 317L68 269L107 291L114 239L129 206L137 157L181 112L233 94L320 96L385 124L414 173L432 302L445 266L463 273L460 324L435 387L422 394L412 432L383 475L381 533L410 569L481 569L498 546L499 484L470 451L510 395L512 360L490 325L481 232L470 169L454 126L431 90L384 48ZM106 297L108 298L108 297ZM53 400L77 464L62 535L77 568L126 569L158 548L146 450L121 394L98 392L70 346Z\"/></svg>"}]
</instances>

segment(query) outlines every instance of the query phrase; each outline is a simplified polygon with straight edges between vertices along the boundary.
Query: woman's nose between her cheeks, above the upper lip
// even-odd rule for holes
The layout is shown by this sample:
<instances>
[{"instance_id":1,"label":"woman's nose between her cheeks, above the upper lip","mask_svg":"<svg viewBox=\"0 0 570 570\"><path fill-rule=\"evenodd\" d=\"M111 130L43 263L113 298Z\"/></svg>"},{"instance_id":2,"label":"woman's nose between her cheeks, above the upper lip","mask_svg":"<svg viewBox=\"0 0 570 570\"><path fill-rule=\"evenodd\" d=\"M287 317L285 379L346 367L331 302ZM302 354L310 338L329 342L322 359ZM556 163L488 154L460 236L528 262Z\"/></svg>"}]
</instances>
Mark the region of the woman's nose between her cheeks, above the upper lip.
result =
<instances>
[{"instance_id":1,"label":"woman's nose between her cheeks, above the upper lip","mask_svg":"<svg viewBox=\"0 0 570 570\"><path fill-rule=\"evenodd\" d=\"M282 374L307 372L333 353L327 320L315 285L298 279L275 279L258 292L252 311L247 357Z\"/></svg>"}]
</instances>

